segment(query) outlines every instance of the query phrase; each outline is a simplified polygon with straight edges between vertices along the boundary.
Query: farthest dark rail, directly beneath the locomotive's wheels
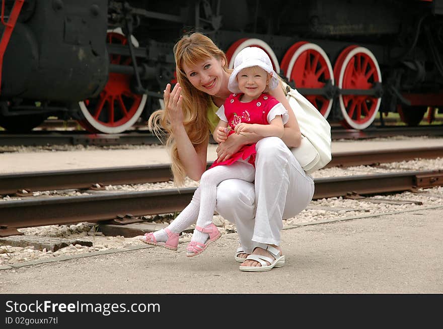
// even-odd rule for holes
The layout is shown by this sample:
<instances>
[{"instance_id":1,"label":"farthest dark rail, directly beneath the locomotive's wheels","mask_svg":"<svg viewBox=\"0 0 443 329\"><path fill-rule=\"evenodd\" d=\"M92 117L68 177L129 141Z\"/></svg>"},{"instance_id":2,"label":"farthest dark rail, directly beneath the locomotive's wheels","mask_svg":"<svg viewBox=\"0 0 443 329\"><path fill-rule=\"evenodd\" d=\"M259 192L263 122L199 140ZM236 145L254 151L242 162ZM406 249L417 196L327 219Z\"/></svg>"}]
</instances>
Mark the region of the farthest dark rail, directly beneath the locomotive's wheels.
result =
<instances>
[{"instance_id":1,"label":"farthest dark rail, directly beneath the locomotive's wheels","mask_svg":"<svg viewBox=\"0 0 443 329\"><path fill-rule=\"evenodd\" d=\"M371 139L394 136L443 136L442 126L421 127L375 127L365 130L331 130L333 140ZM124 134L88 134L84 131L34 131L32 134L8 134L0 132L3 146L48 146L48 145L153 145L158 138L148 130L129 131Z\"/></svg>"}]
</instances>

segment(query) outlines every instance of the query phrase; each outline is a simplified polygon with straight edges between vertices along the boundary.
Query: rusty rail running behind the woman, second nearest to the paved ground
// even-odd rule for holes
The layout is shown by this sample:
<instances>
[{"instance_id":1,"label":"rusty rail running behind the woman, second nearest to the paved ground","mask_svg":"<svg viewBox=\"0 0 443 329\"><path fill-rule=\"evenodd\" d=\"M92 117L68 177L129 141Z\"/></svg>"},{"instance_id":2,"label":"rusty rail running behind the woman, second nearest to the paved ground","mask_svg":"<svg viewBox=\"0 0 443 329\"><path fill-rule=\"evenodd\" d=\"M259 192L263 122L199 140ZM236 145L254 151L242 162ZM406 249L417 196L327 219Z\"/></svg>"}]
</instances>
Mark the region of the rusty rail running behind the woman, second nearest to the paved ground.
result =
<instances>
[{"instance_id":1,"label":"rusty rail running behind the woman, second nearest to the paved ground","mask_svg":"<svg viewBox=\"0 0 443 329\"><path fill-rule=\"evenodd\" d=\"M326 167L374 165L416 158L443 157L443 146L380 151L333 153ZM208 162L210 166L212 162ZM0 194L17 191L46 191L69 188L90 188L93 184L119 185L164 182L172 178L169 164L97 169L40 171L0 174Z\"/></svg>"}]
</instances>

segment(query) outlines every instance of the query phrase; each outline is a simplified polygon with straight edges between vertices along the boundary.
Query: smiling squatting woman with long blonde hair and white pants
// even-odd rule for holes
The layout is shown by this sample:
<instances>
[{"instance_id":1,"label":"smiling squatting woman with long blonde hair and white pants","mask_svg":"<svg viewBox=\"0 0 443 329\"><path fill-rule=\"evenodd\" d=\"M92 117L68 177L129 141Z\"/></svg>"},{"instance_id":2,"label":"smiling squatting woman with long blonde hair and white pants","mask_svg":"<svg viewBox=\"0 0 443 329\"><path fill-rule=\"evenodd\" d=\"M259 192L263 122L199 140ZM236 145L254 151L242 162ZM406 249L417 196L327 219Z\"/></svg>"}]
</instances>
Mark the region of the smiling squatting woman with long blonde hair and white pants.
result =
<instances>
[{"instance_id":1,"label":"smiling squatting woman with long blonde hair and white pants","mask_svg":"<svg viewBox=\"0 0 443 329\"><path fill-rule=\"evenodd\" d=\"M206 169L209 131L213 132L218 122L218 107L231 94L231 70L225 53L200 33L183 36L174 46L174 54L178 83L172 91L170 84L166 86L165 109L153 113L149 127L155 132L166 130L174 180L181 184L186 175L199 180ZM275 260L282 255L282 218L301 212L314 194L312 177L288 149L300 145L301 133L283 87L268 92L288 111L283 137L233 134L216 149L217 158L224 161L243 145L257 143L255 183L229 179L217 187L216 211L236 224L241 247L235 258L242 262L243 271L267 271L276 266ZM176 249L178 234L194 223L192 215L189 218L189 223L177 226L172 222L143 241L167 248L172 241L170 249Z\"/></svg>"}]
</instances>

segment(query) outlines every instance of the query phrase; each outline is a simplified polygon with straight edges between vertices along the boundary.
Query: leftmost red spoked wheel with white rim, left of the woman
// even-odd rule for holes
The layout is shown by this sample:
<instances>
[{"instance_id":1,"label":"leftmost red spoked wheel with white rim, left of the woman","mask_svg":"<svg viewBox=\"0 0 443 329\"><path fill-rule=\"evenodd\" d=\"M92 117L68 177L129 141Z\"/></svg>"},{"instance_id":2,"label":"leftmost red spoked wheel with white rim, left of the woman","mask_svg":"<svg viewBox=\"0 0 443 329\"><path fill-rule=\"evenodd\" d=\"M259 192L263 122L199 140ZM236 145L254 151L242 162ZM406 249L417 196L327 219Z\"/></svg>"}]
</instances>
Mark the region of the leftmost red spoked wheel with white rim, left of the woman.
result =
<instances>
[{"instance_id":1,"label":"leftmost red spoked wheel with white rim, left of the woman","mask_svg":"<svg viewBox=\"0 0 443 329\"><path fill-rule=\"evenodd\" d=\"M127 39L121 30L108 31L108 43L125 45ZM132 44L138 47L135 38ZM122 55L110 55L111 64L131 65L131 58ZM147 95L135 94L130 88L131 76L121 73L109 73L105 88L96 98L80 101L83 120L79 124L89 132L118 134L129 129L140 117Z\"/></svg>"}]
</instances>

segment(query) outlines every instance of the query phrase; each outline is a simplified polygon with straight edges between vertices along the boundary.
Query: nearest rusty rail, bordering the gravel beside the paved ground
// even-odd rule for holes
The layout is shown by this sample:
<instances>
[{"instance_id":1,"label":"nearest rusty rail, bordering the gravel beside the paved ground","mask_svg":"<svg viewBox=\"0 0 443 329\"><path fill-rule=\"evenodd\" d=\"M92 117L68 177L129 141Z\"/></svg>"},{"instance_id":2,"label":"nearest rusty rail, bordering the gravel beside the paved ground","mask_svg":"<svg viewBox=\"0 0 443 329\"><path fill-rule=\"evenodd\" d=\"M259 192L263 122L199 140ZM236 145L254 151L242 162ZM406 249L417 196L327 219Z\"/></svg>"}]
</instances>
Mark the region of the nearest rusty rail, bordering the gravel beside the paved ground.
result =
<instances>
[{"instance_id":1,"label":"nearest rusty rail, bordering the gravel beside the paved ground","mask_svg":"<svg viewBox=\"0 0 443 329\"><path fill-rule=\"evenodd\" d=\"M400 192L437 185L443 185L441 170L317 178L313 199ZM0 202L0 236L17 234L17 228L101 222L114 220L119 214L141 216L181 211L194 191L195 187L188 187L4 201Z\"/></svg>"}]
</instances>

